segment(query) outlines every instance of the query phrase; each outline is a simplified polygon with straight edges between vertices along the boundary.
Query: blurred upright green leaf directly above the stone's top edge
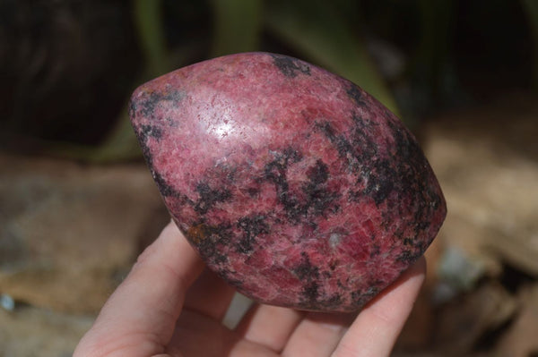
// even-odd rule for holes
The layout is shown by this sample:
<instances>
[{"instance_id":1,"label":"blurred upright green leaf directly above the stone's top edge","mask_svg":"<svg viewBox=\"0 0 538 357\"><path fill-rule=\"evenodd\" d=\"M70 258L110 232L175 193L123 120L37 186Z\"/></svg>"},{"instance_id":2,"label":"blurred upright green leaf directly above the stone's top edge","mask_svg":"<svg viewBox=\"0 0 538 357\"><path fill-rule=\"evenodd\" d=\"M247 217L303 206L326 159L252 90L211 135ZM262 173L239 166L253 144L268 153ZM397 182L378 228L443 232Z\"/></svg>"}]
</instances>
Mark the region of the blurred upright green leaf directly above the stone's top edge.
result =
<instances>
[{"instance_id":1,"label":"blurred upright green leaf directly above the stone's top edge","mask_svg":"<svg viewBox=\"0 0 538 357\"><path fill-rule=\"evenodd\" d=\"M213 0L213 55L254 51L259 44L262 0Z\"/></svg>"}]
</instances>

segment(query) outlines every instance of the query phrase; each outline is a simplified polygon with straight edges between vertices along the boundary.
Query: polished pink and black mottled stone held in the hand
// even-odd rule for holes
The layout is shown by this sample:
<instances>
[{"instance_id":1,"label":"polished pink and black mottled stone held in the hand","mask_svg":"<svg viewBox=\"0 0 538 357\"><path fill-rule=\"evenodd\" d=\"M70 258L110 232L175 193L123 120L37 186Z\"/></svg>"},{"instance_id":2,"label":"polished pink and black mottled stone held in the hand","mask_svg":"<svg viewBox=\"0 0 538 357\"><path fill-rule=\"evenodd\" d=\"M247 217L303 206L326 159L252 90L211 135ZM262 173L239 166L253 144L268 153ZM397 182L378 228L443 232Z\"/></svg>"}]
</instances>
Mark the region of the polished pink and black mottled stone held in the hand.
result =
<instances>
[{"instance_id":1,"label":"polished pink and black mottled stone held in the hand","mask_svg":"<svg viewBox=\"0 0 538 357\"><path fill-rule=\"evenodd\" d=\"M179 229L257 302L353 311L446 215L417 141L364 90L284 55L228 55L134 92L134 131Z\"/></svg>"}]
</instances>

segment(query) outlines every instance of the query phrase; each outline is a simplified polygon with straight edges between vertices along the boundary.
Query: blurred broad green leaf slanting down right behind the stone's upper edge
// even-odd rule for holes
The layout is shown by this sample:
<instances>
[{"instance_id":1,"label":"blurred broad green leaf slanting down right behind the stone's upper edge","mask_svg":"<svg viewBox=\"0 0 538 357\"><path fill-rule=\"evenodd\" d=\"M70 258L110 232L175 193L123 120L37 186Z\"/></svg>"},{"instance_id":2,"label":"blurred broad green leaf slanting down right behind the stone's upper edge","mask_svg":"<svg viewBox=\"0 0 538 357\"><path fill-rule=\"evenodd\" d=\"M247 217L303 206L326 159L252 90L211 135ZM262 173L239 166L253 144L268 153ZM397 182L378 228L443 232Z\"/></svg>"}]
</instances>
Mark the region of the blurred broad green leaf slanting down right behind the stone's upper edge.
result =
<instances>
[{"instance_id":1,"label":"blurred broad green leaf slanting down right behind the stone's upper edge","mask_svg":"<svg viewBox=\"0 0 538 357\"><path fill-rule=\"evenodd\" d=\"M330 2L272 1L266 7L265 21L277 36L311 62L358 84L398 115L395 99L363 42Z\"/></svg>"}]
</instances>

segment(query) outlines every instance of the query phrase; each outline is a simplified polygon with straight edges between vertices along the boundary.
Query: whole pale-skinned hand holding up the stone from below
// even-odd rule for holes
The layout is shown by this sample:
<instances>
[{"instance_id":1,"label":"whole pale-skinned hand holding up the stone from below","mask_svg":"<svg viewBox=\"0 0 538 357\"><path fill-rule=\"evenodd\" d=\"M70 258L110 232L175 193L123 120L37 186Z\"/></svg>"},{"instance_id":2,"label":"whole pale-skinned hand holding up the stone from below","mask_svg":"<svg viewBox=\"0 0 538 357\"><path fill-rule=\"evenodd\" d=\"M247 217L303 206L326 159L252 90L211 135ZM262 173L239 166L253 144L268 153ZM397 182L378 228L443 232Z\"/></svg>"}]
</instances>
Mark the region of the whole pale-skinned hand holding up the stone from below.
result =
<instances>
[{"instance_id":1,"label":"whole pale-skinned hand holding up the stone from below","mask_svg":"<svg viewBox=\"0 0 538 357\"><path fill-rule=\"evenodd\" d=\"M169 224L100 311L74 357L388 356L424 280L423 258L359 314L254 305L221 325L233 289Z\"/></svg>"}]
</instances>

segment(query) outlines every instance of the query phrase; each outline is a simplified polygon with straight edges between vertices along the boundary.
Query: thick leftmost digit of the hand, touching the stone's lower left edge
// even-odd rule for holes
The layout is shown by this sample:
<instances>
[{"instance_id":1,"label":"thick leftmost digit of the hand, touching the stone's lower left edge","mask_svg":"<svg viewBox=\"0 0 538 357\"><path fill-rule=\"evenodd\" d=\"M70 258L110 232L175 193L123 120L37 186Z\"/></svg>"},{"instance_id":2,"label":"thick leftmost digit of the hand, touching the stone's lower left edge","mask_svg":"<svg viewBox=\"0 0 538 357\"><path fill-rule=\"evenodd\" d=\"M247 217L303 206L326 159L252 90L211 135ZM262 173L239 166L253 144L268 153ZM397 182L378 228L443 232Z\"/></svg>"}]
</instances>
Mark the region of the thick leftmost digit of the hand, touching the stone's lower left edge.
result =
<instances>
[{"instance_id":1,"label":"thick leftmost digit of the hand, touching the stone's lower left edge","mask_svg":"<svg viewBox=\"0 0 538 357\"><path fill-rule=\"evenodd\" d=\"M163 353L187 288L203 268L202 260L178 227L167 225L110 296L74 357Z\"/></svg>"}]
</instances>

